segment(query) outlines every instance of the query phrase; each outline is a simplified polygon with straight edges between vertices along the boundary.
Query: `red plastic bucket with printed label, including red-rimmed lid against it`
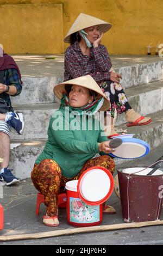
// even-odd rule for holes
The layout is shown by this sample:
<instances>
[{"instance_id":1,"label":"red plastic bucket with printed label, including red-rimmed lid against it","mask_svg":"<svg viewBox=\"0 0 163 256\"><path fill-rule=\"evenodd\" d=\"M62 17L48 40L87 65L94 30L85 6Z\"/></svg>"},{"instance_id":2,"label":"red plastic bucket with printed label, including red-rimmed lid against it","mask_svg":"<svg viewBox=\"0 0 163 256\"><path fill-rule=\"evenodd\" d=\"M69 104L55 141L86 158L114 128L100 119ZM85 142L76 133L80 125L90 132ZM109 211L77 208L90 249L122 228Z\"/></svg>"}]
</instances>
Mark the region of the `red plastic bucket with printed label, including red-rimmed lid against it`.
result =
<instances>
[{"instance_id":1,"label":"red plastic bucket with printed label, including red-rimmed lid against it","mask_svg":"<svg viewBox=\"0 0 163 256\"><path fill-rule=\"evenodd\" d=\"M79 180L68 181L67 222L75 227L101 224L103 203L111 196L113 188L114 179L103 167L89 168Z\"/></svg>"}]
</instances>

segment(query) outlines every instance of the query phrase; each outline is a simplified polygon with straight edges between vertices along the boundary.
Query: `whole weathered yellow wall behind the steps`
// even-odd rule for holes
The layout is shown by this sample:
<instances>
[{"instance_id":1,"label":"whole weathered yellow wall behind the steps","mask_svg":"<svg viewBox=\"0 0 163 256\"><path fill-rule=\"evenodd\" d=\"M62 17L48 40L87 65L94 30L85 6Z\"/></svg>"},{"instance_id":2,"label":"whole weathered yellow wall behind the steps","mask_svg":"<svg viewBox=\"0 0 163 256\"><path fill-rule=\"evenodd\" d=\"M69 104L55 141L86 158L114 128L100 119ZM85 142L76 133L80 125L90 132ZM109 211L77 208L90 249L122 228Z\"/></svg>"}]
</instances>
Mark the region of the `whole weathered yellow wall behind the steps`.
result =
<instances>
[{"instance_id":1,"label":"whole weathered yellow wall behind the steps","mask_svg":"<svg viewBox=\"0 0 163 256\"><path fill-rule=\"evenodd\" d=\"M19 5L16 14L11 4ZM47 4L46 12L44 5L39 4ZM5 13L4 5L8 5ZM39 13L32 15L38 8ZM158 42L163 43L163 0L0 0L0 16L5 18L0 19L0 43L8 53L63 53L68 44L62 44L62 39L80 13L112 24L102 41L110 54L146 54L146 46L151 42L154 53ZM13 36L17 38L16 46L11 45Z\"/></svg>"}]
</instances>

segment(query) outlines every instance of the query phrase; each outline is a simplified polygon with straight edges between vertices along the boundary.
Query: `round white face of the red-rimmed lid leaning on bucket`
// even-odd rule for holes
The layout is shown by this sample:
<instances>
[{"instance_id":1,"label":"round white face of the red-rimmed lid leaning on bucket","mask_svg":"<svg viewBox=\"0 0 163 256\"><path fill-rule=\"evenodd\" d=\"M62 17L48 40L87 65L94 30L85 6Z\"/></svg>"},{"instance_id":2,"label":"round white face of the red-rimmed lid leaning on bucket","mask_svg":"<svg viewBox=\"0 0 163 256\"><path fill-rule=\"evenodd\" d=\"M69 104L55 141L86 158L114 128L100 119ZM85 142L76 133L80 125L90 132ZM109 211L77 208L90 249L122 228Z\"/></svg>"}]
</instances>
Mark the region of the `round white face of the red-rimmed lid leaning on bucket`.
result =
<instances>
[{"instance_id":1,"label":"round white face of the red-rimmed lid leaning on bucket","mask_svg":"<svg viewBox=\"0 0 163 256\"><path fill-rule=\"evenodd\" d=\"M87 201L97 202L108 194L110 178L101 169L89 170L81 179L79 190Z\"/></svg>"}]
</instances>

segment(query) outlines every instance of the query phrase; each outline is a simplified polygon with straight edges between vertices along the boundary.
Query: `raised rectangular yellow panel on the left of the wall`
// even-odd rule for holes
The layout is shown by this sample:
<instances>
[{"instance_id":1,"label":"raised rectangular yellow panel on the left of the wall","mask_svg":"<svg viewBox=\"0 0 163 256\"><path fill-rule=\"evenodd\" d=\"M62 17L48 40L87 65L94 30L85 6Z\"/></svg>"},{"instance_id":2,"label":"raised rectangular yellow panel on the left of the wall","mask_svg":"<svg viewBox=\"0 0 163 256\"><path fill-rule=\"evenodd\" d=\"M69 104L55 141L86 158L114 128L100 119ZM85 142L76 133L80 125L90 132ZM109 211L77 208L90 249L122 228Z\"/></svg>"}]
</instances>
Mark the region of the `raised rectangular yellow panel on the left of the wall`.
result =
<instances>
[{"instance_id":1,"label":"raised rectangular yellow panel on the left of the wall","mask_svg":"<svg viewBox=\"0 0 163 256\"><path fill-rule=\"evenodd\" d=\"M0 5L0 14L3 31L0 41L6 52L43 54L64 51L62 4Z\"/></svg>"}]
</instances>

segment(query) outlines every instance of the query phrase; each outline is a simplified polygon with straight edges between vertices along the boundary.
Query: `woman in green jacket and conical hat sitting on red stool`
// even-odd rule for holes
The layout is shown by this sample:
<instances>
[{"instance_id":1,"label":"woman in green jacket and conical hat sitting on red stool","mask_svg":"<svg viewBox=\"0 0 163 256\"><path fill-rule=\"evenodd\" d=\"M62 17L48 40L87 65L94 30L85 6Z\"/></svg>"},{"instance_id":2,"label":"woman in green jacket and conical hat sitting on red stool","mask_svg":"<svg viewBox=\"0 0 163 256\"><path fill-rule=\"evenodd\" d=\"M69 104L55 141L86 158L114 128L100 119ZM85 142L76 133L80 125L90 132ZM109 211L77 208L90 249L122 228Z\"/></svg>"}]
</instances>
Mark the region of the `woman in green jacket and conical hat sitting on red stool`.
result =
<instances>
[{"instance_id":1,"label":"woman in green jacket and conical hat sitting on red stool","mask_svg":"<svg viewBox=\"0 0 163 256\"><path fill-rule=\"evenodd\" d=\"M51 117L48 141L31 173L35 188L45 198L43 223L52 227L59 225L58 194L64 192L67 181L79 179L93 166L105 167L112 174L115 170L114 160L108 155L92 159L97 153L111 152L108 138L94 117L110 103L95 80L83 76L60 83L54 93L61 99L61 106ZM114 214L115 209L104 205L104 213Z\"/></svg>"}]
</instances>

